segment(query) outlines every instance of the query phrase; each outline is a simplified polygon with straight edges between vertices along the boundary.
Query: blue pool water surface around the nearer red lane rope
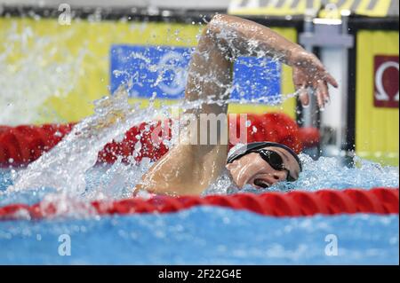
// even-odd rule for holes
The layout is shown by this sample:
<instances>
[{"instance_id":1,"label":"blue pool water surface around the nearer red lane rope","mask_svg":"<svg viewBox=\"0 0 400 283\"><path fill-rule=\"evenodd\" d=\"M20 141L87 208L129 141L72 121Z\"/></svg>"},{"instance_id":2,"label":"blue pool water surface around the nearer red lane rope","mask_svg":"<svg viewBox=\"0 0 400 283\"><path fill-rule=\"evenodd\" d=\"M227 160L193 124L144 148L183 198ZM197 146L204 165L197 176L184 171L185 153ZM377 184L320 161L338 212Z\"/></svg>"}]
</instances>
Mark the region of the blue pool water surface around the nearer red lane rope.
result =
<instances>
[{"instance_id":1,"label":"blue pool water surface around the nearer red lane rope","mask_svg":"<svg viewBox=\"0 0 400 283\"><path fill-rule=\"evenodd\" d=\"M396 168L365 163L347 169L332 160L313 162L306 163L304 177L298 181L309 191L398 186ZM331 177L313 169L328 167ZM109 174L105 170L95 167L88 174L89 192L102 184L101 177ZM108 176L111 187L121 186L113 174ZM8 185L12 185L11 171L0 170L0 206L33 204L49 193L57 195L51 188L4 193ZM118 192L108 193L124 197ZM0 222L0 264L398 264L398 222L393 215L276 218L215 207L163 215L4 221ZM70 255L62 252L68 250L62 249L66 244Z\"/></svg>"}]
</instances>

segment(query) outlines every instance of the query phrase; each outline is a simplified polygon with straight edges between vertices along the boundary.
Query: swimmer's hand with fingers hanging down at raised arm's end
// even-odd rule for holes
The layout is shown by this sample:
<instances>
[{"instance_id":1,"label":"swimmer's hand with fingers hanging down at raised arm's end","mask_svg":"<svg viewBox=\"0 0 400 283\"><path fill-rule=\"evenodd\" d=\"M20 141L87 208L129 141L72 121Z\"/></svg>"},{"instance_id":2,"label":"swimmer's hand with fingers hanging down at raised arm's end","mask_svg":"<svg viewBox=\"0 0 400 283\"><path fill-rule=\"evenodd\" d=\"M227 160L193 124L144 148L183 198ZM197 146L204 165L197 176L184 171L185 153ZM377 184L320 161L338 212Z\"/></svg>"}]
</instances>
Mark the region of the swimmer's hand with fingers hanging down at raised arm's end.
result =
<instances>
[{"instance_id":1,"label":"swimmer's hand with fingers hanging down at raised arm's end","mask_svg":"<svg viewBox=\"0 0 400 283\"><path fill-rule=\"evenodd\" d=\"M299 92L301 104L308 106L308 88L311 88L316 94L318 106L324 108L325 103L329 101L328 83L335 88L338 87L338 83L314 54L300 46L291 53L289 63L292 66L293 83Z\"/></svg>"}]
</instances>

